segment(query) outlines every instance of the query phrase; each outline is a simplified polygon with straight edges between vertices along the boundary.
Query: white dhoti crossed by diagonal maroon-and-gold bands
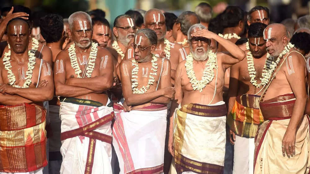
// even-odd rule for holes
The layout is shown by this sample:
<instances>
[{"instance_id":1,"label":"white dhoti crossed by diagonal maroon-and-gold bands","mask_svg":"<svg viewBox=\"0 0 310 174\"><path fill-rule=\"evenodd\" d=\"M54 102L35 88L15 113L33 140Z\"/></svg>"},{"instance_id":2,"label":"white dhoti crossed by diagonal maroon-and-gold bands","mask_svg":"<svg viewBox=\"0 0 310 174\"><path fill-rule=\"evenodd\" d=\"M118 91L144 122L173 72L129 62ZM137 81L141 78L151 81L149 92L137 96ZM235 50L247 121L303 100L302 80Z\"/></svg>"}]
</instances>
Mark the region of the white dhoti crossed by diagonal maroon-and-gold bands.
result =
<instances>
[{"instance_id":1,"label":"white dhoti crossed by diagonal maroon-and-gold bands","mask_svg":"<svg viewBox=\"0 0 310 174\"><path fill-rule=\"evenodd\" d=\"M92 100L61 99L60 173L110 174L113 107Z\"/></svg>"}]
</instances>

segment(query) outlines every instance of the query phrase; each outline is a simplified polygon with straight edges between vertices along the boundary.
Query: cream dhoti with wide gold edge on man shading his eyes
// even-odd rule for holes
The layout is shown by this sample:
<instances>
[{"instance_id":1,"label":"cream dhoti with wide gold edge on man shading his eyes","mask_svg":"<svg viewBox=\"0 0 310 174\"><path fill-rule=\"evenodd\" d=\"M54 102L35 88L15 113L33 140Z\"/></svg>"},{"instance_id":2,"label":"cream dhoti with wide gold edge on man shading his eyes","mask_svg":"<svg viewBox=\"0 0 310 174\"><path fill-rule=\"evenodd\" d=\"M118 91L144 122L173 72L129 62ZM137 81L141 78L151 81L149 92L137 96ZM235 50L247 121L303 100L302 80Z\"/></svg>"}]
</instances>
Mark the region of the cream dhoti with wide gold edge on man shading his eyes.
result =
<instances>
[{"instance_id":1,"label":"cream dhoti with wide gold edge on man shading his eyes","mask_svg":"<svg viewBox=\"0 0 310 174\"><path fill-rule=\"evenodd\" d=\"M177 173L222 174L226 143L225 102L188 104L176 111L174 150Z\"/></svg>"}]
</instances>

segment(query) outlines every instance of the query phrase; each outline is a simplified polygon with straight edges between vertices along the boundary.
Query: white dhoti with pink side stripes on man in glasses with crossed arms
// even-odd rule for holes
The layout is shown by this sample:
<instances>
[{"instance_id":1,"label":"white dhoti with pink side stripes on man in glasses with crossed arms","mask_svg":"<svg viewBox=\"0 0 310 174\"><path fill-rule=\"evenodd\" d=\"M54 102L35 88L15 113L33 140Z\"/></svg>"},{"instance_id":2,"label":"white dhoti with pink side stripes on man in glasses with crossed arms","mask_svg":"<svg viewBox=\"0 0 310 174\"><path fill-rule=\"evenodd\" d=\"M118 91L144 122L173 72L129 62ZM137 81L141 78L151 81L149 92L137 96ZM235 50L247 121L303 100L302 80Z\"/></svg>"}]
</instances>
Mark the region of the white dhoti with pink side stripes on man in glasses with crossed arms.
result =
<instances>
[{"instance_id":1,"label":"white dhoti with pink side stripes on man in glasses with crossed arms","mask_svg":"<svg viewBox=\"0 0 310 174\"><path fill-rule=\"evenodd\" d=\"M163 172L167 107L161 104L125 112L114 104L113 146L120 174Z\"/></svg>"}]
</instances>

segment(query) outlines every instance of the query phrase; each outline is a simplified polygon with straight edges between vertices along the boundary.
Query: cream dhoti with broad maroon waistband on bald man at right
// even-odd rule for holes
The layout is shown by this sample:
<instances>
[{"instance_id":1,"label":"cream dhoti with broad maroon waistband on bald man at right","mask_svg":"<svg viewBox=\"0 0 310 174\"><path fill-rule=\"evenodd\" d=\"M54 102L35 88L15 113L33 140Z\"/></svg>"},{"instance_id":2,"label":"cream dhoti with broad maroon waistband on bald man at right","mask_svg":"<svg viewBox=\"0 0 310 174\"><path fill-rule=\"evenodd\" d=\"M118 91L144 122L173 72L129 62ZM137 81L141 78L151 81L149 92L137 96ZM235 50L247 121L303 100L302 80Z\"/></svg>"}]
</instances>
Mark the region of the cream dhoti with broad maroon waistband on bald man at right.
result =
<instances>
[{"instance_id":1,"label":"cream dhoti with broad maroon waistband on bald man at right","mask_svg":"<svg viewBox=\"0 0 310 174\"><path fill-rule=\"evenodd\" d=\"M292 116L294 94L285 94L259 104L264 122L255 137L255 174L309 173L309 117L305 115L296 132L295 154L283 156L282 139Z\"/></svg>"}]
</instances>

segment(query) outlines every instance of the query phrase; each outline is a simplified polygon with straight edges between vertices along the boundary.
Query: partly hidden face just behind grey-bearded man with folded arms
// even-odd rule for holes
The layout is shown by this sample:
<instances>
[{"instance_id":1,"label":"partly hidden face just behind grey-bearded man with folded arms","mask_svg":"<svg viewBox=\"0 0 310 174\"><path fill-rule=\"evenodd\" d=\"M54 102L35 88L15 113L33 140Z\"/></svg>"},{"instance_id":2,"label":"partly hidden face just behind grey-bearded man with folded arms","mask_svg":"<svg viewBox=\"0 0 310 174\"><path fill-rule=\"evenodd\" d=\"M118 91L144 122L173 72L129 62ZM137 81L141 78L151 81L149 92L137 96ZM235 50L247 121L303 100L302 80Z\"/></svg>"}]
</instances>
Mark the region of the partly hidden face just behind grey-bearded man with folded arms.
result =
<instances>
[{"instance_id":1,"label":"partly hidden face just behind grey-bearded man with folded arms","mask_svg":"<svg viewBox=\"0 0 310 174\"><path fill-rule=\"evenodd\" d=\"M98 43L99 46L106 48L108 41L111 39L109 30L109 26L95 24L93 26L93 41Z\"/></svg>"}]
</instances>

